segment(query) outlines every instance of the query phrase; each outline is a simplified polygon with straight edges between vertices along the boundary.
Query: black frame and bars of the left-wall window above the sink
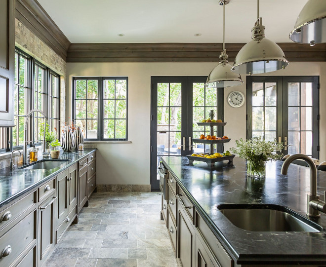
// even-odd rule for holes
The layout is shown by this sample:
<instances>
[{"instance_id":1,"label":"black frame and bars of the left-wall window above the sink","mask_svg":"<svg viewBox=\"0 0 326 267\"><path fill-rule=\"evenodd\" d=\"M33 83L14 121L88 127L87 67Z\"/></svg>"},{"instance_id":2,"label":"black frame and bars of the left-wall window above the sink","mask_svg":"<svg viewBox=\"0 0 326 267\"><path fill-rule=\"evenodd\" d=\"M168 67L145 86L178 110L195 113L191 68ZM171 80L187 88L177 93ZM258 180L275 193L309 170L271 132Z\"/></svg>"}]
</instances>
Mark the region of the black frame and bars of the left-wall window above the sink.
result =
<instances>
[{"instance_id":1,"label":"black frame and bars of the left-wall window above the sink","mask_svg":"<svg viewBox=\"0 0 326 267\"><path fill-rule=\"evenodd\" d=\"M44 91L45 91L45 98L43 99L43 106L44 106L44 110L43 112L45 113L45 118L46 118L46 122L49 123L49 114L50 114L50 105L49 105L49 98L50 98L50 84L49 84L49 77L50 74L53 74L54 76L57 77L57 82L58 82L58 86L57 86L57 95L59 97L59 101L58 101L58 109L57 109L57 115L58 118L60 118L60 75L57 74L56 72L54 72L53 70L51 70L50 68L46 67L44 64L42 64L41 62L39 62L38 60L36 60L34 57L30 56L29 54L27 54L26 52L22 51L21 49L19 49L18 47L15 47L15 54L18 53L21 56L25 57L28 59L28 63L27 63L27 69L28 69L28 73L27 73L27 88L29 88L28 92L27 92L27 99L26 99L26 110L30 111L32 109L34 109L34 96L35 96L35 85L34 85L34 78L35 78L35 65L39 65L41 66L41 68L43 68L45 70L45 74L44 74ZM15 96L14 96L15 97ZM19 106L19 103L18 105ZM32 114L30 121L29 121L29 131L28 131L28 140L32 140L32 142L30 143L30 146L32 146L33 144L40 146L41 142L33 142L35 140L34 138L34 123L32 123L34 121L34 118L37 118L38 116L40 116L40 114L38 116L35 116L36 114ZM25 117L25 116L23 116ZM25 119L24 119L25 120ZM59 125L59 124L58 124ZM17 127L17 125L15 126ZM51 129L50 129L51 130ZM19 131L19 130L18 130ZM13 134L12 134L12 128L7 128L7 140L8 140L8 146L6 148L6 151L0 150L0 153L4 153L4 152L11 152L15 149L17 150L21 150L23 149L23 145L19 145L19 146L12 146L12 139ZM57 138L60 139L60 130L57 129Z\"/></svg>"}]
</instances>

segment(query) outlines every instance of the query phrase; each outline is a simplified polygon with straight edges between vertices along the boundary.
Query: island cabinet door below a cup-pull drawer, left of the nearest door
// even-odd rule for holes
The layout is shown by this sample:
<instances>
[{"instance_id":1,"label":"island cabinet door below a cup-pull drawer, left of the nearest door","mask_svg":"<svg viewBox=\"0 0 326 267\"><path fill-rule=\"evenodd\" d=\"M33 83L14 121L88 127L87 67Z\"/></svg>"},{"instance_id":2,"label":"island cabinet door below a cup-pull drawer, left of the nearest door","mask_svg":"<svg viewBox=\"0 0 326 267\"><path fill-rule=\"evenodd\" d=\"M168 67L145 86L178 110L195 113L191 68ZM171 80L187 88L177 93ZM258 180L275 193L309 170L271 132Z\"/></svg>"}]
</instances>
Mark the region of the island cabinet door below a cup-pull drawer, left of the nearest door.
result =
<instances>
[{"instance_id":1,"label":"island cabinet door below a cup-pull drawer, left of the nearest door","mask_svg":"<svg viewBox=\"0 0 326 267\"><path fill-rule=\"evenodd\" d=\"M186 216L181 208L178 209L177 261L183 267L192 267L194 266L195 229Z\"/></svg>"}]
</instances>

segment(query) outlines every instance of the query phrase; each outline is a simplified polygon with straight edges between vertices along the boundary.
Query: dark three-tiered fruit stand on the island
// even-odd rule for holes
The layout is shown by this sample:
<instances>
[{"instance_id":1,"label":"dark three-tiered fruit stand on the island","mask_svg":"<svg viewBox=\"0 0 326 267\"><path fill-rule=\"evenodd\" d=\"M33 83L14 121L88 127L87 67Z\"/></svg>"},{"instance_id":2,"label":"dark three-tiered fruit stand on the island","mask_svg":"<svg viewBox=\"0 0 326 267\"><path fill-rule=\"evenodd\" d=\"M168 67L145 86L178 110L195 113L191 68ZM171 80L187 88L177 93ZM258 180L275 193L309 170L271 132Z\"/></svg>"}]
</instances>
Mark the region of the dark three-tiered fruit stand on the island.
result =
<instances>
[{"instance_id":1,"label":"dark three-tiered fruit stand on the island","mask_svg":"<svg viewBox=\"0 0 326 267\"><path fill-rule=\"evenodd\" d=\"M215 116L214 111L210 111L209 116L211 119ZM209 126L210 127L210 135L214 135L214 127L215 126L224 126L226 122L197 122L198 126ZM204 154L213 154L214 153L214 144L218 143L228 143L230 142L229 139L193 139L194 143L201 143L201 144L209 144L209 153L204 153ZM229 155L229 156L222 156L222 157L216 157L216 158L206 158L206 157L198 157L198 156L192 156L192 155L187 155L189 159L189 163L193 163L195 160L197 161L203 161L206 162L209 167L213 166L215 162L217 161L224 161L224 160L229 160L229 163L233 162L233 158L235 155Z\"/></svg>"}]
</instances>

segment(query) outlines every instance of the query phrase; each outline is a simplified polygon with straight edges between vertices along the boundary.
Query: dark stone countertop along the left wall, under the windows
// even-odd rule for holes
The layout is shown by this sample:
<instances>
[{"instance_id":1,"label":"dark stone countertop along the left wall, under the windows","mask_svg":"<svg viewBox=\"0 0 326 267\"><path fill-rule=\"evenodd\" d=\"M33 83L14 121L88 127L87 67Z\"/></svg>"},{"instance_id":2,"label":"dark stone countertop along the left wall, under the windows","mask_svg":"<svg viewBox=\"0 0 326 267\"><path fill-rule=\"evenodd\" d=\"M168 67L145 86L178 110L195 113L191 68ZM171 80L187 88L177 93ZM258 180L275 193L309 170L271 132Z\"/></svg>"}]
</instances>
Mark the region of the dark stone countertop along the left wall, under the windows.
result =
<instances>
[{"instance_id":1,"label":"dark stone countertop along the left wall, under the windows","mask_svg":"<svg viewBox=\"0 0 326 267\"><path fill-rule=\"evenodd\" d=\"M96 149L85 149L81 152L61 152L59 159L69 159L64 162L62 167L56 167L50 170L28 170L18 169L23 166L22 163L15 166L12 171L9 167L0 170L0 208L20 195L37 188L41 183L53 178L61 171L69 168L82 157L89 155ZM39 157L39 160L41 157Z\"/></svg>"}]
</instances>

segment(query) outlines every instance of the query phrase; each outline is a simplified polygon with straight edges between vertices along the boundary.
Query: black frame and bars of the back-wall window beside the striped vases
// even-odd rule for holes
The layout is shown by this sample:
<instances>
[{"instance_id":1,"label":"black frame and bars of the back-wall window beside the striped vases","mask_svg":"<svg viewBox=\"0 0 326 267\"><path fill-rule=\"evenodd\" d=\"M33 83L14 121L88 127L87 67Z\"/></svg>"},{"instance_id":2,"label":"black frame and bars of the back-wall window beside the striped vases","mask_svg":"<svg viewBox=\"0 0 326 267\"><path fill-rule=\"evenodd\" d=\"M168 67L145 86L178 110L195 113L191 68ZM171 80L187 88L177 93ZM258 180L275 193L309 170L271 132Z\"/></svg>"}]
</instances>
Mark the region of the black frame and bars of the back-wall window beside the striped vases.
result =
<instances>
[{"instance_id":1,"label":"black frame and bars of the back-wall window beside the striped vases","mask_svg":"<svg viewBox=\"0 0 326 267\"><path fill-rule=\"evenodd\" d=\"M125 80L126 81L126 127L125 127L125 138L104 138L103 136L103 124L104 124L104 81L105 80ZM83 76L83 77L73 77L73 92L72 92L72 120L76 121L76 81L77 80L97 80L98 81L98 92L97 92L97 139L95 138L85 138L85 141L128 141L128 77L127 76ZM111 99L111 98L110 98ZM110 100L109 99L109 100ZM78 100L87 100L86 99L78 99ZM105 100L108 100L107 98ZM112 100L112 99L111 99ZM114 100L124 100L124 99L118 99L115 98ZM86 102L87 106L87 102ZM115 108L116 109L116 108ZM124 119L124 118L116 118L116 112L115 112L115 118L117 119ZM85 137L87 137L87 111L86 111L86 123L85 123ZM115 123L115 135L116 135L116 123Z\"/></svg>"}]
</instances>

